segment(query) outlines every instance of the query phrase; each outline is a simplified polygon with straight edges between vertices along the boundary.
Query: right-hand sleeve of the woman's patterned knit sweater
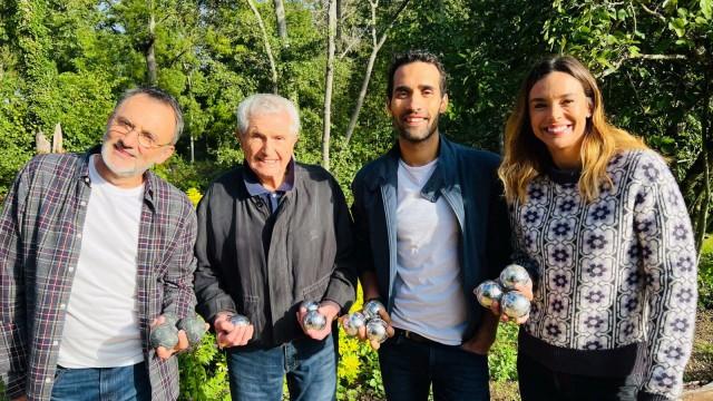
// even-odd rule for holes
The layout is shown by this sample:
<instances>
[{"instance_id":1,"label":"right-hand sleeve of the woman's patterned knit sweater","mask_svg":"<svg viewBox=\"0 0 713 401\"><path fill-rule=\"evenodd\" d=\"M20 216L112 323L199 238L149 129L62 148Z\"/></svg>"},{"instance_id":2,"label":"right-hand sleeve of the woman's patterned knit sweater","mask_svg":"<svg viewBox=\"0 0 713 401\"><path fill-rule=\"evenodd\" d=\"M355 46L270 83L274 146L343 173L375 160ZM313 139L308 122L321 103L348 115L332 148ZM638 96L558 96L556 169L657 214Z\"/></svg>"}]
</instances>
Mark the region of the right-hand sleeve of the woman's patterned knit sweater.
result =
<instances>
[{"instance_id":1,"label":"right-hand sleeve of the woman's patterned knit sweater","mask_svg":"<svg viewBox=\"0 0 713 401\"><path fill-rule=\"evenodd\" d=\"M648 302L647 371L643 391L676 399L693 345L696 252L691 221L676 182L657 156L635 170L644 184L635 194L634 250L643 264Z\"/></svg>"}]
</instances>

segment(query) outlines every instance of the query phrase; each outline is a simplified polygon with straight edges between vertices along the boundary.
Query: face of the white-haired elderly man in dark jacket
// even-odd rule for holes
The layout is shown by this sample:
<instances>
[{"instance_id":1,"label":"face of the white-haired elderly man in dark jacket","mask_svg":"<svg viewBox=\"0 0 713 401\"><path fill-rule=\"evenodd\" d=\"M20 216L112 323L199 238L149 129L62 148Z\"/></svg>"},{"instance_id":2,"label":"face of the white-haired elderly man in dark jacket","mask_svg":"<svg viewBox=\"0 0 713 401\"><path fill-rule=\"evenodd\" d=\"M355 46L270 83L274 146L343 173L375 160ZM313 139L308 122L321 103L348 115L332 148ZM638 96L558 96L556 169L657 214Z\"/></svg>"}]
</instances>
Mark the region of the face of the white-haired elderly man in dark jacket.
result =
<instances>
[{"instance_id":1,"label":"face of the white-haired elderly man in dark jacket","mask_svg":"<svg viewBox=\"0 0 713 401\"><path fill-rule=\"evenodd\" d=\"M237 134L245 162L271 190L282 185L297 143L290 118L286 111L251 115L246 133Z\"/></svg>"}]
</instances>

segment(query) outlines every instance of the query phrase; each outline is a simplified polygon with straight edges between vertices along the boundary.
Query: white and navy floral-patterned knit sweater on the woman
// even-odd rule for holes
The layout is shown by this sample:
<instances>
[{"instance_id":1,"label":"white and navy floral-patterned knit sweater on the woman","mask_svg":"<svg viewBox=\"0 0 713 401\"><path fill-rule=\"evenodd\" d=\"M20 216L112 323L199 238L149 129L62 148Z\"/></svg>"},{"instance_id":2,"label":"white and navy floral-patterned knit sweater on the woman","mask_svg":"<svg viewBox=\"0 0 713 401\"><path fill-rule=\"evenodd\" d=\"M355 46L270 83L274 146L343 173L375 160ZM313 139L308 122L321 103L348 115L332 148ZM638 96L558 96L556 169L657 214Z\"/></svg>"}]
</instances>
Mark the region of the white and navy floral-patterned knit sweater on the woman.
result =
<instances>
[{"instance_id":1,"label":"white and navy floral-patterned knit sweater on the woman","mask_svg":"<svg viewBox=\"0 0 713 401\"><path fill-rule=\"evenodd\" d=\"M578 174L550 172L510 206L518 261L535 273L520 352L555 371L643 375L649 399L675 399L693 343L696 254L673 175L649 150L607 166L592 203Z\"/></svg>"}]
</instances>

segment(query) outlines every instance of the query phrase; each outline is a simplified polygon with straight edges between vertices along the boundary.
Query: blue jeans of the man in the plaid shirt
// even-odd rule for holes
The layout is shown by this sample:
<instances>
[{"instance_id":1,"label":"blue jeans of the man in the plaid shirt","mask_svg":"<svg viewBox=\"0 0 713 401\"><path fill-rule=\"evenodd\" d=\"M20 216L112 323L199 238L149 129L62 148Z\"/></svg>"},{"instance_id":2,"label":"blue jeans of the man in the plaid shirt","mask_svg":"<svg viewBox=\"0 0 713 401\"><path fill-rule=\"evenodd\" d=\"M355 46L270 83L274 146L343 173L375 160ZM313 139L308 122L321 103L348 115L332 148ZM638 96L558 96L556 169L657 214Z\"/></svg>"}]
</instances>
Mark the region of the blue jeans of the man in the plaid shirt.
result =
<instances>
[{"instance_id":1,"label":"blue jeans of the man in the plaid shirt","mask_svg":"<svg viewBox=\"0 0 713 401\"><path fill-rule=\"evenodd\" d=\"M52 401L150 401L146 363L119 368L57 366Z\"/></svg>"}]
</instances>

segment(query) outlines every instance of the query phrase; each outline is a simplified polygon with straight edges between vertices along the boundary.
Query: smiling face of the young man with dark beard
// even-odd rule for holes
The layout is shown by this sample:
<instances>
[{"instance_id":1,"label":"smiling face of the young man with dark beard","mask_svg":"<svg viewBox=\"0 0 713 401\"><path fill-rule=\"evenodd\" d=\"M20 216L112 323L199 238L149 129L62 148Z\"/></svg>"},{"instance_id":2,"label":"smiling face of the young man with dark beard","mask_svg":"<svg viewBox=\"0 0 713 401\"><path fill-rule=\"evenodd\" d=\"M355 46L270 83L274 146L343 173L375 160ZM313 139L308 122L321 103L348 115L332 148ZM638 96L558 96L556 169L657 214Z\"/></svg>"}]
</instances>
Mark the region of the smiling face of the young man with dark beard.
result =
<instances>
[{"instance_id":1,"label":"smiling face of the young man with dark beard","mask_svg":"<svg viewBox=\"0 0 713 401\"><path fill-rule=\"evenodd\" d=\"M438 131L438 117L448 107L440 81L440 71L428 62L407 63L394 71L388 107L401 139L420 143Z\"/></svg>"}]
</instances>

